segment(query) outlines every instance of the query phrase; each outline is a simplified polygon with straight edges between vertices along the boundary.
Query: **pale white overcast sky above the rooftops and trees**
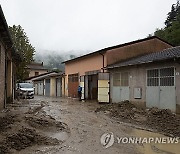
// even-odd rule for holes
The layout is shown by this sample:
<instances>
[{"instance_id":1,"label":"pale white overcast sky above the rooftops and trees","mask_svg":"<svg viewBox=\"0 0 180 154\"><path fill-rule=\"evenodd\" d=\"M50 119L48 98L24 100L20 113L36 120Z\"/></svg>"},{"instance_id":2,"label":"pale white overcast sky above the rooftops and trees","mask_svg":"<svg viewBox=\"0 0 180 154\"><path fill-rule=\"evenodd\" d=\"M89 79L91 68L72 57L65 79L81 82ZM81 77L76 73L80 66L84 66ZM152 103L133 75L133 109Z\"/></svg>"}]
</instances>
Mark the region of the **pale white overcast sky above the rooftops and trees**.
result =
<instances>
[{"instance_id":1,"label":"pale white overcast sky above the rooftops and trees","mask_svg":"<svg viewBox=\"0 0 180 154\"><path fill-rule=\"evenodd\" d=\"M164 27L176 0L0 0L36 50L99 50Z\"/></svg>"}]
</instances>

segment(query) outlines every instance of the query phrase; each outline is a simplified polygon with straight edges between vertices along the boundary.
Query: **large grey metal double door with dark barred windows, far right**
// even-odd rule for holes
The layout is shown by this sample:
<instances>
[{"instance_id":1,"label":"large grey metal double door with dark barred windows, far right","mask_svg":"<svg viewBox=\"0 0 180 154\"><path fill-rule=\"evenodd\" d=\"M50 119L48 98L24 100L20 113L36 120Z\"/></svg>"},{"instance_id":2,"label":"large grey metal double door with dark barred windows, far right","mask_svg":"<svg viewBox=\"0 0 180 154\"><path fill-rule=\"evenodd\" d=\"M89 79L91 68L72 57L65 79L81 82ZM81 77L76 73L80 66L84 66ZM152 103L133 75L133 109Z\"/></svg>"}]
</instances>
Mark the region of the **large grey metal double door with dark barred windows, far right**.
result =
<instances>
[{"instance_id":1,"label":"large grey metal double door with dark barred windows, far right","mask_svg":"<svg viewBox=\"0 0 180 154\"><path fill-rule=\"evenodd\" d=\"M174 67L147 70L146 105L176 110Z\"/></svg>"}]
</instances>

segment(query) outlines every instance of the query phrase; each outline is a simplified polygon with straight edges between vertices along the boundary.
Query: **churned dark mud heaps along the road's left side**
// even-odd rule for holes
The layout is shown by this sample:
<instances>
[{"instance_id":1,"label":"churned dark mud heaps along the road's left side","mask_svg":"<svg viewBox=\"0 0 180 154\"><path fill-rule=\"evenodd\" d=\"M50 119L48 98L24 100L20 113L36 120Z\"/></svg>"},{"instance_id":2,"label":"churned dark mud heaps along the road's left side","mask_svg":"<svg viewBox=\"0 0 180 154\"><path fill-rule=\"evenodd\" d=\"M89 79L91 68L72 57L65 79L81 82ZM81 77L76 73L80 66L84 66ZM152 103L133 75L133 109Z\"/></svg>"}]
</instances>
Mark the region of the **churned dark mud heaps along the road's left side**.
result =
<instances>
[{"instance_id":1,"label":"churned dark mud heaps along the road's left side","mask_svg":"<svg viewBox=\"0 0 180 154\"><path fill-rule=\"evenodd\" d=\"M63 138L61 140L51 134L68 134L69 128L65 123L46 115L42 110L45 105L43 101L20 100L0 113L0 154L20 153L37 145L62 144Z\"/></svg>"}]
</instances>

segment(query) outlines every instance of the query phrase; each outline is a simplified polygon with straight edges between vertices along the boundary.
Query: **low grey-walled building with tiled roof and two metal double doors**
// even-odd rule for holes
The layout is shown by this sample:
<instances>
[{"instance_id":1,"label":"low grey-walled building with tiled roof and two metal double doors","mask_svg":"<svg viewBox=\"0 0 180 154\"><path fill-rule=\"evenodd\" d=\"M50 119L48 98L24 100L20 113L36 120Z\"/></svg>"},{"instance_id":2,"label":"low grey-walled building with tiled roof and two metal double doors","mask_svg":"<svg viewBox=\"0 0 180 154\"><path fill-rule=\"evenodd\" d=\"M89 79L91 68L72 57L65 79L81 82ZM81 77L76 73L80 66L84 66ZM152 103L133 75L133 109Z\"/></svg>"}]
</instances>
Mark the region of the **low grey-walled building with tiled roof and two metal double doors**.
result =
<instances>
[{"instance_id":1,"label":"low grey-walled building with tiled roof and two metal double doors","mask_svg":"<svg viewBox=\"0 0 180 154\"><path fill-rule=\"evenodd\" d=\"M180 113L180 46L109 65L110 101Z\"/></svg>"}]
</instances>

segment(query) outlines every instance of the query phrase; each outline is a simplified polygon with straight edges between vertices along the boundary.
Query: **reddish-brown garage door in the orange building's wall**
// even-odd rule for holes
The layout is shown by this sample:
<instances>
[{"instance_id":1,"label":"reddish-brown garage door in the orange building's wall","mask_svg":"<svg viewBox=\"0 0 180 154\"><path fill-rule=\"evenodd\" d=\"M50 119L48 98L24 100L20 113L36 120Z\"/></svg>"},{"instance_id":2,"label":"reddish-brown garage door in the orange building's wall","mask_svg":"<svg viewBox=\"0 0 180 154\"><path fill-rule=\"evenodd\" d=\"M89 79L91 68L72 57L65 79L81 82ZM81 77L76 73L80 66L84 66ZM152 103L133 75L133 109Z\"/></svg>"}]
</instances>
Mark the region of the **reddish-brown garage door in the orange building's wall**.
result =
<instances>
[{"instance_id":1,"label":"reddish-brown garage door in the orange building's wall","mask_svg":"<svg viewBox=\"0 0 180 154\"><path fill-rule=\"evenodd\" d=\"M78 74L69 74L68 75L68 96L69 97L78 97Z\"/></svg>"}]
</instances>

